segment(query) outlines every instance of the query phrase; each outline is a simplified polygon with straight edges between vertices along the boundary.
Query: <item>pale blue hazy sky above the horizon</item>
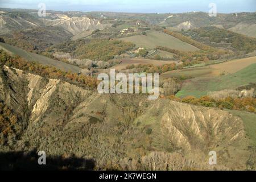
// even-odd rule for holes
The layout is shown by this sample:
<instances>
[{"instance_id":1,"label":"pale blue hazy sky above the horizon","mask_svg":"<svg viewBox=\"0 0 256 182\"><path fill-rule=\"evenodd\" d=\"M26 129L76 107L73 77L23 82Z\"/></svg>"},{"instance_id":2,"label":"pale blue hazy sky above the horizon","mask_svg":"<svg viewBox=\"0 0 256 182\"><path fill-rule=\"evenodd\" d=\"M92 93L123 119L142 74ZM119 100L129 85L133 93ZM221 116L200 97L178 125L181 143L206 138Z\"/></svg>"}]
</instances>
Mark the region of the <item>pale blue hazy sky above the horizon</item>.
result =
<instances>
[{"instance_id":1,"label":"pale blue hazy sky above the horizon","mask_svg":"<svg viewBox=\"0 0 256 182\"><path fill-rule=\"evenodd\" d=\"M256 11L256 0L0 0L0 7L38 9L41 2L48 10L62 11L208 12L209 3L216 3L218 13Z\"/></svg>"}]
</instances>

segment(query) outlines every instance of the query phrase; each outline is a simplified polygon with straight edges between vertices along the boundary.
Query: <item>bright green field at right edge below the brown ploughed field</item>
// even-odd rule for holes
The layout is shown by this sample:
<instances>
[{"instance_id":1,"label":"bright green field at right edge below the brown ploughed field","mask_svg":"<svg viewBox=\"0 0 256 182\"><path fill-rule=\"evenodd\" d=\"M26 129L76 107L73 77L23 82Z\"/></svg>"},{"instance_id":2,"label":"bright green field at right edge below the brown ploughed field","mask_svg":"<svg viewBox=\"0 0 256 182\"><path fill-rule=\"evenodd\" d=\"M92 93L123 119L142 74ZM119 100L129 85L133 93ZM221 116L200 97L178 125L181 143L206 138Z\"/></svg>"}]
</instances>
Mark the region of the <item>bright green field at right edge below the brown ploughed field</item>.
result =
<instances>
[{"instance_id":1,"label":"bright green field at right edge below the brown ploughed field","mask_svg":"<svg viewBox=\"0 0 256 182\"><path fill-rule=\"evenodd\" d=\"M242 69L233 74L217 77L197 77L184 82L177 97L207 95L210 91L224 89L236 89L238 86L249 84L256 81L256 64Z\"/></svg>"}]
</instances>

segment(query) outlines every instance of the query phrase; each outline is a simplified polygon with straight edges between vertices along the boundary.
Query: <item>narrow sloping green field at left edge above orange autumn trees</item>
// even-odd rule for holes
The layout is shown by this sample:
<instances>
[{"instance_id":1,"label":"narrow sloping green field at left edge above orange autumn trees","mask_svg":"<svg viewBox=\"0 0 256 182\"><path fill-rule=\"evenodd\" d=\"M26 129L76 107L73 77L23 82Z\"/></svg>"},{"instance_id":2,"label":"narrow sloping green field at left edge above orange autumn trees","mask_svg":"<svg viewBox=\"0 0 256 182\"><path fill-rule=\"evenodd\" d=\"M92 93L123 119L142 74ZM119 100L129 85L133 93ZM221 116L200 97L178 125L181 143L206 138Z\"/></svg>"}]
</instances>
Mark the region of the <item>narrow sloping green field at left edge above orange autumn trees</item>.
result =
<instances>
[{"instance_id":1,"label":"narrow sloping green field at left edge above orange autumn trees","mask_svg":"<svg viewBox=\"0 0 256 182\"><path fill-rule=\"evenodd\" d=\"M38 55L36 53L31 53L24 51L23 49L10 46L9 44L0 43L0 49L3 49L7 53L10 53L11 55L18 55L22 57L23 59L26 59L27 61L35 61L43 65L48 65L55 67L57 69L61 69L63 71L71 71L73 73L79 73L81 71L81 68L76 67L75 65L67 64L61 61L50 59L49 57Z\"/></svg>"}]
</instances>

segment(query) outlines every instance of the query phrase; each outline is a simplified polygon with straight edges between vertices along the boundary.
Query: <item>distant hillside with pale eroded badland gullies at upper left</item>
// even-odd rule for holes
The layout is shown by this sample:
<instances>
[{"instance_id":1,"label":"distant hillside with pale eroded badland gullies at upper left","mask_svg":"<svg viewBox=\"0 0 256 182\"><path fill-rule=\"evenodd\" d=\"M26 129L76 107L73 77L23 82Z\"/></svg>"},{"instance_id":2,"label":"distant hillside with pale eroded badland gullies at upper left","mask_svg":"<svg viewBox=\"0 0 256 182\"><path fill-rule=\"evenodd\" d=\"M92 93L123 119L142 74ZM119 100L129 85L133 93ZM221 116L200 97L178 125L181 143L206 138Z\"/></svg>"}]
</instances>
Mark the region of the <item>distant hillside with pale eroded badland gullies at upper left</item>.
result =
<instances>
[{"instance_id":1,"label":"distant hillside with pale eroded badland gullies at upper left","mask_svg":"<svg viewBox=\"0 0 256 182\"><path fill-rule=\"evenodd\" d=\"M38 16L38 10L3 9L3 13L0 14L0 35L9 34L10 31L44 26L61 27L76 35L85 30L103 29L108 24L102 24L99 19L88 18L85 13L81 15L47 11L47 16L42 18Z\"/></svg>"}]
</instances>

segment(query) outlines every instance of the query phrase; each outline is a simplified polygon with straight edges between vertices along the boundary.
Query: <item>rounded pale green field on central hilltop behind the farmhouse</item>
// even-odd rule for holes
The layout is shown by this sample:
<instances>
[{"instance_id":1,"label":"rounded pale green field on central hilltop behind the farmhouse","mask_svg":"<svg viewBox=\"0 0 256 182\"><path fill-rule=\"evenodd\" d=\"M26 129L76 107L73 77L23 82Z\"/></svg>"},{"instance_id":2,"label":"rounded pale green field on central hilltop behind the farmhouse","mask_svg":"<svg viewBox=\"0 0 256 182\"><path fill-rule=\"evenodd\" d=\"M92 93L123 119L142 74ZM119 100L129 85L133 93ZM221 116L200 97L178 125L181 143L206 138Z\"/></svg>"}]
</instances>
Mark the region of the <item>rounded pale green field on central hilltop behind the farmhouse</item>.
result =
<instances>
[{"instance_id":1,"label":"rounded pale green field on central hilltop behind the farmhouse","mask_svg":"<svg viewBox=\"0 0 256 182\"><path fill-rule=\"evenodd\" d=\"M171 35L164 34L159 31L147 31L147 36L145 35L135 35L127 38L121 38L119 40L125 40L127 42L133 42L137 47L145 47L148 49L153 49L157 46L164 46L171 49L177 49L179 51L197 51L198 48L182 42L179 39L174 38Z\"/></svg>"}]
</instances>

